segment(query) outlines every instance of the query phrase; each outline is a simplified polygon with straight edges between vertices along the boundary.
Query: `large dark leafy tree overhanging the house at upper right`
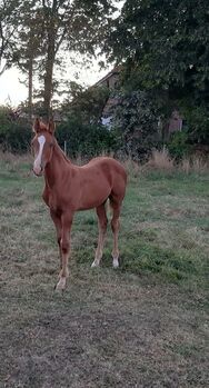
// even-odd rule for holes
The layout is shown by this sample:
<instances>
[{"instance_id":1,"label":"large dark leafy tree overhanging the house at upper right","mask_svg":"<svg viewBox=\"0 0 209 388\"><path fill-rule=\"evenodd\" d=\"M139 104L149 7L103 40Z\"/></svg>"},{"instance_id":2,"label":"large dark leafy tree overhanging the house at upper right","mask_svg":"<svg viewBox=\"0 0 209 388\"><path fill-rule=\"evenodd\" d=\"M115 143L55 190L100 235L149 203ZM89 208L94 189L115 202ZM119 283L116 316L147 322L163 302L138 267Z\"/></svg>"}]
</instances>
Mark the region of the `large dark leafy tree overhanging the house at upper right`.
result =
<instances>
[{"instance_id":1,"label":"large dark leafy tree overhanging the house at upper right","mask_svg":"<svg viewBox=\"0 0 209 388\"><path fill-rule=\"evenodd\" d=\"M186 120L189 107L208 110L208 0L127 0L104 50L126 62L129 89L167 94L165 103L171 100ZM199 120L200 115L192 117ZM195 127L200 133L201 121ZM206 132L200 138L206 139Z\"/></svg>"}]
</instances>

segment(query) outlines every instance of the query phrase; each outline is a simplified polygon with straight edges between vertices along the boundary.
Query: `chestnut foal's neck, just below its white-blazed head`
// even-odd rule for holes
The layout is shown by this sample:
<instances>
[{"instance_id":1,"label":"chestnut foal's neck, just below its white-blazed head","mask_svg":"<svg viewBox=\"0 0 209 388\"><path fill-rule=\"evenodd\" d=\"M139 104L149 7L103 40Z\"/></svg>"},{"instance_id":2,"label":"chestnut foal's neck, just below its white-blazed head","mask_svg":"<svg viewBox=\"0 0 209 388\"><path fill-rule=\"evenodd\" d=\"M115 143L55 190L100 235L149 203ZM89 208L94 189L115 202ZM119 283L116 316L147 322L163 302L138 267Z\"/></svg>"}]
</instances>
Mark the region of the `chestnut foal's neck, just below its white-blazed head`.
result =
<instances>
[{"instance_id":1,"label":"chestnut foal's neck, just below its white-blazed head","mask_svg":"<svg viewBox=\"0 0 209 388\"><path fill-rule=\"evenodd\" d=\"M46 166L44 169L44 180L46 185L52 189L54 186L60 187L63 176L67 170L70 170L72 163L67 159L61 148L56 143L53 153L50 162Z\"/></svg>"}]
</instances>

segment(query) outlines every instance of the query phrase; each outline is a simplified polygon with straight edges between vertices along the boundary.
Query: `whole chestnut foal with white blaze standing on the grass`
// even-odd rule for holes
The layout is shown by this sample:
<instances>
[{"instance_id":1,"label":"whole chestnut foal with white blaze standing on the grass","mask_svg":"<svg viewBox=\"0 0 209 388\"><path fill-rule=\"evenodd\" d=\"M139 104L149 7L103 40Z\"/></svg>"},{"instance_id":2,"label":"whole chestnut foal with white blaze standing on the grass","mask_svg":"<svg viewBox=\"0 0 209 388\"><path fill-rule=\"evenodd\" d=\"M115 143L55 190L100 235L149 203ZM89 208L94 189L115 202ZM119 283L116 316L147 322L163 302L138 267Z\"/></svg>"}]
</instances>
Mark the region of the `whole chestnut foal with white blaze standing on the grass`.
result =
<instances>
[{"instance_id":1,"label":"whole chestnut foal with white blaze standing on the grass","mask_svg":"<svg viewBox=\"0 0 209 388\"><path fill-rule=\"evenodd\" d=\"M32 140L34 155L33 172L44 176L42 198L50 209L57 230L60 250L60 273L57 289L64 289L69 276L70 229L76 211L96 208L99 237L94 261L98 267L102 258L108 218L106 202L109 198L112 209L113 267L119 266L118 231L119 216L125 197L127 175L123 167L112 158L94 158L82 167L74 166L62 152L54 138L54 125L36 119Z\"/></svg>"}]
</instances>

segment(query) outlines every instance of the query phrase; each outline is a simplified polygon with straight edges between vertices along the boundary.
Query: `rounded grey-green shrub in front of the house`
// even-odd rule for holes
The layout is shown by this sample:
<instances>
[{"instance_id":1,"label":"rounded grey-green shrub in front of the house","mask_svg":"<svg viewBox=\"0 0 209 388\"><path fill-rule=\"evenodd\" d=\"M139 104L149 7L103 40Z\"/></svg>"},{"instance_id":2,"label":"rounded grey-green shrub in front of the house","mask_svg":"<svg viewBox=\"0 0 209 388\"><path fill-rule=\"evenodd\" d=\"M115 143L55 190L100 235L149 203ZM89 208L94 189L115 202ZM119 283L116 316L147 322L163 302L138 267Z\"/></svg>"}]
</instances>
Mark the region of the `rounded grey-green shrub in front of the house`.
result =
<instances>
[{"instance_id":1,"label":"rounded grey-green shrub in front of the house","mask_svg":"<svg viewBox=\"0 0 209 388\"><path fill-rule=\"evenodd\" d=\"M135 160L145 159L159 140L158 110L147 92L121 94L113 126L120 150Z\"/></svg>"}]
</instances>

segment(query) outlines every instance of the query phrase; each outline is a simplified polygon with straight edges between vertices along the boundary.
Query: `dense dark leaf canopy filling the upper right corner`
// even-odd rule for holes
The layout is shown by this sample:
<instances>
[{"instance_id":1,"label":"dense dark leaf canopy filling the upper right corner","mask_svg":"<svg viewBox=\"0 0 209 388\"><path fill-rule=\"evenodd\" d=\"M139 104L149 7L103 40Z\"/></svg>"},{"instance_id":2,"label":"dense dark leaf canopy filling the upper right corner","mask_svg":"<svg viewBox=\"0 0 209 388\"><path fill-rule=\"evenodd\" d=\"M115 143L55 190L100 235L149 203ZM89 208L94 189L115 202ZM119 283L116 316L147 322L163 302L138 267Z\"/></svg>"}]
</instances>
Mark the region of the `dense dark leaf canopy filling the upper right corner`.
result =
<instances>
[{"instance_id":1,"label":"dense dark leaf canopy filling the upper right corner","mask_svg":"<svg viewBox=\"0 0 209 388\"><path fill-rule=\"evenodd\" d=\"M146 87L190 86L207 92L207 0L127 0L111 36L113 52L132 59Z\"/></svg>"}]
</instances>

